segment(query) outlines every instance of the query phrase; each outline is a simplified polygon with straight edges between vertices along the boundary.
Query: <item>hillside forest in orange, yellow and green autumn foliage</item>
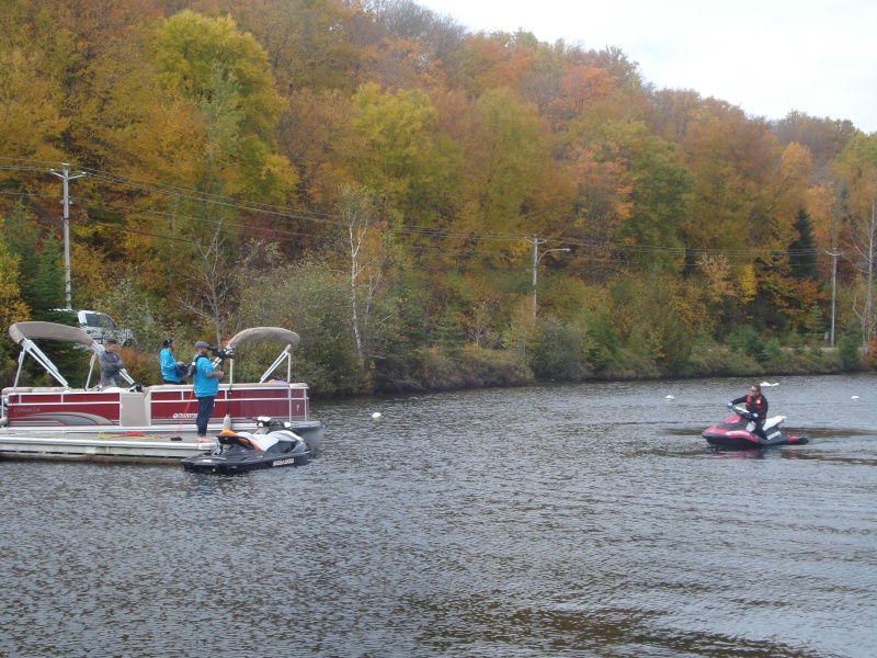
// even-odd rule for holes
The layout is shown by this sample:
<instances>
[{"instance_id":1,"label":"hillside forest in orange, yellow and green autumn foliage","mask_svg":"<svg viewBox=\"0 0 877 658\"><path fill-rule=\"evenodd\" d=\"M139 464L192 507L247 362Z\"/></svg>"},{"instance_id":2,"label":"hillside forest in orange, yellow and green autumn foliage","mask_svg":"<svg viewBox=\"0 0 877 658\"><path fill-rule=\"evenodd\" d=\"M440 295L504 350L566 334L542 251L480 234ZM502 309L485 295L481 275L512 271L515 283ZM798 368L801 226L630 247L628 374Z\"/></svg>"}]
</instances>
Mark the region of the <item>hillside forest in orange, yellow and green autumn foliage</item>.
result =
<instances>
[{"instance_id":1,"label":"hillside forest in orange, yellow and green autumn foliage","mask_svg":"<svg viewBox=\"0 0 877 658\"><path fill-rule=\"evenodd\" d=\"M67 248L147 384L163 338L254 326L318 396L874 365L877 134L842 117L411 0L2 8L4 330L69 321Z\"/></svg>"}]
</instances>

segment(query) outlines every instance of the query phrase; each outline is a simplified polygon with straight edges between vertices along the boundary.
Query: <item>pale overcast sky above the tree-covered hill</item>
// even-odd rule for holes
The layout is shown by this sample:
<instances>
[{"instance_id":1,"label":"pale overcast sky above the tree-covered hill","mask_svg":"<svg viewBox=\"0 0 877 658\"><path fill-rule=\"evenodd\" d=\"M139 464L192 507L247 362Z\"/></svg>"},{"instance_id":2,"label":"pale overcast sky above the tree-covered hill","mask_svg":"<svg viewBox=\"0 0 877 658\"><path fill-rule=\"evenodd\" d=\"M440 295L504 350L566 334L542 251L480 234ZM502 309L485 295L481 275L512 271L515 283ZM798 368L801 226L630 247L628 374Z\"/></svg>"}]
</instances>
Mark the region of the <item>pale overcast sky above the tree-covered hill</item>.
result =
<instances>
[{"instance_id":1,"label":"pale overcast sky above the tree-covered hill","mask_svg":"<svg viewBox=\"0 0 877 658\"><path fill-rule=\"evenodd\" d=\"M659 88L877 132L877 0L415 0L469 31L620 48Z\"/></svg>"}]
</instances>

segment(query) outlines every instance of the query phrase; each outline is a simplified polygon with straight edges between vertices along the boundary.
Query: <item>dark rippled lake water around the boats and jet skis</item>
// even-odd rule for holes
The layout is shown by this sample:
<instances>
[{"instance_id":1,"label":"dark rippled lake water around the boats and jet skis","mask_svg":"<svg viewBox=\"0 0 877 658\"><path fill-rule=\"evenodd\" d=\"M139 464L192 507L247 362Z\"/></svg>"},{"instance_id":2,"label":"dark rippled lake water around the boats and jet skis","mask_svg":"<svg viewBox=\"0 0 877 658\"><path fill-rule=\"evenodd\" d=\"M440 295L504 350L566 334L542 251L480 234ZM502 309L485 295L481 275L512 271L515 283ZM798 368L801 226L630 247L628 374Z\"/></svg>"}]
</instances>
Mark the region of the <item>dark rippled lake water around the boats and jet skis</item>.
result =
<instances>
[{"instance_id":1,"label":"dark rippled lake water around the boats and jet skis","mask_svg":"<svg viewBox=\"0 0 877 658\"><path fill-rule=\"evenodd\" d=\"M775 381L809 445L706 449L710 379L316 402L317 458L236 477L0 463L0 655L875 656L877 377Z\"/></svg>"}]
</instances>

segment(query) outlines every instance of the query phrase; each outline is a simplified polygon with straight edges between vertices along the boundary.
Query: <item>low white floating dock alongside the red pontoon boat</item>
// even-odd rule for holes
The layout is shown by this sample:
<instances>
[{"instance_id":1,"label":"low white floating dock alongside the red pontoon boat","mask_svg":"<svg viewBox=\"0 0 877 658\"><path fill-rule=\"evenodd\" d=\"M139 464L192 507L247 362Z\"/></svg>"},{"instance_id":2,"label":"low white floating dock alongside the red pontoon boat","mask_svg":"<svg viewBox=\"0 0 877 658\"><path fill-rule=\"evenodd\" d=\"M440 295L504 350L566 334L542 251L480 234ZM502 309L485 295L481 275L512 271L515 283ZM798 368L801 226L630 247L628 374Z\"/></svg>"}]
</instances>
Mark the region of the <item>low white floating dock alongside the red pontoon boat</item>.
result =
<instances>
[{"instance_id":1,"label":"low white floating dock alongside the red pontoon boat","mask_svg":"<svg viewBox=\"0 0 877 658\"><path fill-rule=\"evenodd\" d=\"M215 446L210 443L207 447ZM118 434L46 433L15 435L0 432L0 461L53 460L67 462L110 462L128 464L172 464L205 452L195 436L122 436Z\"/></svg>"}]
</instances>

